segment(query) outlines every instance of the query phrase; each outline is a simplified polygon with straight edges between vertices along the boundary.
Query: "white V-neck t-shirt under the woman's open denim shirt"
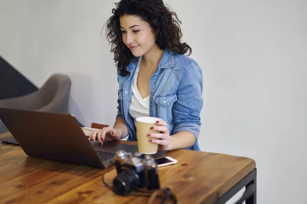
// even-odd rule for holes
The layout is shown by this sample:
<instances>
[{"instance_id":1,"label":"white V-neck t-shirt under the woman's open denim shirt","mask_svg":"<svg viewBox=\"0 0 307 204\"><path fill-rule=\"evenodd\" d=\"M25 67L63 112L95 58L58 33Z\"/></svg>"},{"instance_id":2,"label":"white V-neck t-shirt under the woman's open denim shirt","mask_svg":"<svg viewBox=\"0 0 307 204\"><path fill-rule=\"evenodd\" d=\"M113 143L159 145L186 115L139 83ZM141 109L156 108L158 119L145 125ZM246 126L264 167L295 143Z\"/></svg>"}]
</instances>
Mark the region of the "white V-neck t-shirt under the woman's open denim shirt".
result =
<instances>
[{"instance_id":1,"label":"white V-neck t-shirt under the woman's open denim shirt","mask_svg":"<svg viewBox=\"0 0 307 204\"><path fill-rule=\"evenodd\" d=\"M138 90L138 87L137 87L138 73L140 70L141 61L142 61L142 57L140 57L139 59L137 69L134 74L133 86L132 86L132 96L131 96L131 102L129 106L129 114L131 117L133 117L136 126L137 126L136 118L149 116L149 95L145 98L142 98Z\"/></svg>"}]
</instances>

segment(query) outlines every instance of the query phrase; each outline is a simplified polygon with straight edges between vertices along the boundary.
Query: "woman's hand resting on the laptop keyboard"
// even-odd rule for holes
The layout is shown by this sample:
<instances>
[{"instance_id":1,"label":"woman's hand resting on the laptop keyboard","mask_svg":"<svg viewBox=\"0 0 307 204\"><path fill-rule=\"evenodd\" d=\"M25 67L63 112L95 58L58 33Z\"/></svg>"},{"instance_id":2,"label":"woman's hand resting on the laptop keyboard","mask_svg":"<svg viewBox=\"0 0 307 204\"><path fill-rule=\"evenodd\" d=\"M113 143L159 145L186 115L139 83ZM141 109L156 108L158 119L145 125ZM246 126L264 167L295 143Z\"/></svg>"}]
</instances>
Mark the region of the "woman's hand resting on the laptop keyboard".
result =
<instances>
[{"instance_id":1,"label":"woman's hand resting on the laptop keyboard","mask_svg":"<svg viewBox=\"0 0 307 204\"><path fill-rule=\"evenodd\" d=\"M96 136L100 145L102 145L104 141L119 140L121 137L121 133L113 127L107 126L103 127L103 129L101 129L100 131L95 131L93 135L89 137L89 140L95 142Z\"/></svg>"}]
</instances>

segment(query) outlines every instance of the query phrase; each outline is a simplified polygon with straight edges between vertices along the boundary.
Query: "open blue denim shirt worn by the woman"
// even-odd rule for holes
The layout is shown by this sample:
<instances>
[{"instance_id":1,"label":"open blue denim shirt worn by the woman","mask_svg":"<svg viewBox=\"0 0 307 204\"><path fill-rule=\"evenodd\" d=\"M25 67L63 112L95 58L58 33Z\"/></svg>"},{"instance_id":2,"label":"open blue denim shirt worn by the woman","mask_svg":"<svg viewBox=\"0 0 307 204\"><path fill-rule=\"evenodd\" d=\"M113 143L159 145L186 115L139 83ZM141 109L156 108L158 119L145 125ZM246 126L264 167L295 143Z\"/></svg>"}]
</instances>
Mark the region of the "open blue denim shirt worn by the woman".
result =
<instances>
[{"instance_id":1,"label":"open blue denim shirt worn by the woman","mask_svg":"<svg viewBox=\"0 0 307 204\"><path fill-rule=\"evenodd\" d=\"M118 114L123 118L128 132L128 140L137 141L134 119L128 109L131 101L133 77L139 58L127 66L128 74L118 74ZM192 133L196 142L186 149L200 150L200 113L203 107L203 74L200 66L191 58L164 50L157 70L150 78L149 116L167 122L170 136L180 132Z\"/></svg>"}]
</instances>

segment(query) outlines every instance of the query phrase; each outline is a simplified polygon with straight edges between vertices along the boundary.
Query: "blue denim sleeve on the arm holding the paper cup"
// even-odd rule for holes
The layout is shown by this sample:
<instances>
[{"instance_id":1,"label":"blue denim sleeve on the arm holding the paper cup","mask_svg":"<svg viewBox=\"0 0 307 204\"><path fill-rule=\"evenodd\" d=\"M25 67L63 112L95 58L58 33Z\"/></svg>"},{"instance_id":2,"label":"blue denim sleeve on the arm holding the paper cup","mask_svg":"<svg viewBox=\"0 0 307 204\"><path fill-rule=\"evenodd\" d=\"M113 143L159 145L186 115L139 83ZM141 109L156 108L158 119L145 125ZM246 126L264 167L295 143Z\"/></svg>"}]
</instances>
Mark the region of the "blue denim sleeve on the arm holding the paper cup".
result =
<instances>
[{"instance_id":1,"label":"blue denim sleeve on the arm holding the paper cup","mask_svg":"<svg viewBox=\"0 0 307 204\"><path fill-rule=\"evenodd\" d=\"M198 140L201 127L200 113L203 107L203 74L196 62L189 64L182 74L173 106L174 130L192 133Z\"/></svg>"}]
</instances>

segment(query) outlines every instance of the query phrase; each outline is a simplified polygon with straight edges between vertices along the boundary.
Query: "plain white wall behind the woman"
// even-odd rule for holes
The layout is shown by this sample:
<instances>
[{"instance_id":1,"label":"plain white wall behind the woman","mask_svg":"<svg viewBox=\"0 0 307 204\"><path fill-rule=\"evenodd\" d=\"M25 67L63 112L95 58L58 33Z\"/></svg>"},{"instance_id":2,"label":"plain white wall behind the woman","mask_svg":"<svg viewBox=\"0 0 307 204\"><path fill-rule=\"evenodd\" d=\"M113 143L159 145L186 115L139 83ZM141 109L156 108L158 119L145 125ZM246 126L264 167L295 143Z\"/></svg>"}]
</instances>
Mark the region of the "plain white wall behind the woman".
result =
<instances>
[{"instance_id":1,"label":"plain white wall behind the woman","mask_svg":"<svg viewBox=\"0 0 307 204\"><path fill-rule=\"evenodd\" d=\"M169 0L204 74L202 150L251 157L258 203L306 203L307 1ZM100 31L113 0L0 0L0 55L41 86L72 79L81 122L113 124L117 77Z\"/></svg>"}]
</instances>

